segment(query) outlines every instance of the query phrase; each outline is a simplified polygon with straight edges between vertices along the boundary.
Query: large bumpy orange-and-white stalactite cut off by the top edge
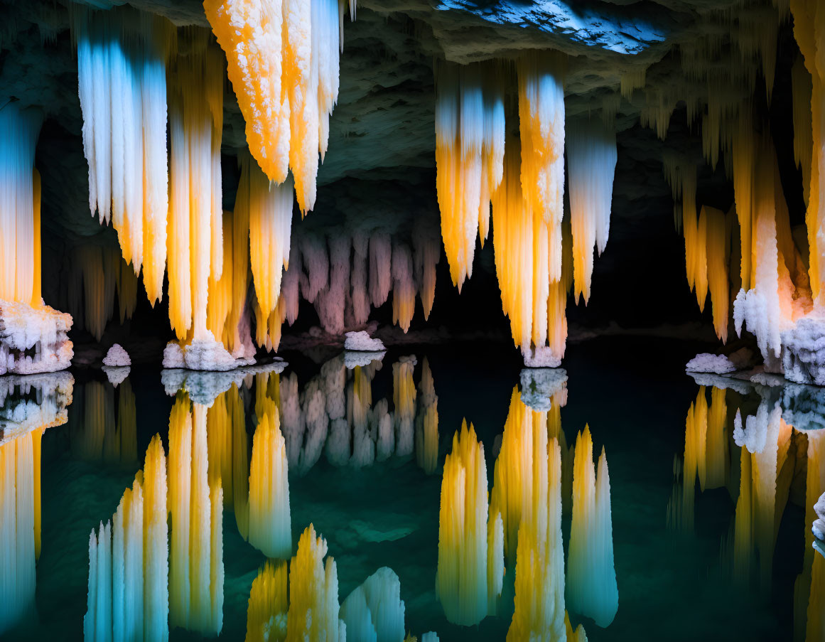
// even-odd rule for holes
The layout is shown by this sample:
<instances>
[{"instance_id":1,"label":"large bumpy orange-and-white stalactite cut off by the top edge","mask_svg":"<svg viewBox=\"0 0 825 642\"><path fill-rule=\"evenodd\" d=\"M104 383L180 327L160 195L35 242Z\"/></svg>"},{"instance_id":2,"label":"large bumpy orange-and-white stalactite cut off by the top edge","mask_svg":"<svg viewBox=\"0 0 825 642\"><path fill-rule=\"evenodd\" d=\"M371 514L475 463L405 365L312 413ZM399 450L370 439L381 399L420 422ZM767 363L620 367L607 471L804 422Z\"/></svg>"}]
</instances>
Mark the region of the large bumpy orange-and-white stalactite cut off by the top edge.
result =
<instances>
[{"instance_id":1,"label":"large bumpy orange-and-white stalactite cut off by the top edge","mask_svg":"<svg viewBox=\"0 0 825 642\"><path fill-rule=\"evenodd\" d=\"M355 8L351 0L353 20ZM271 181L285 182L291 169L305 214L338 99L344 2L206 0L204 9L226 52L249 150Z\"/></svg>"}]
</instances>

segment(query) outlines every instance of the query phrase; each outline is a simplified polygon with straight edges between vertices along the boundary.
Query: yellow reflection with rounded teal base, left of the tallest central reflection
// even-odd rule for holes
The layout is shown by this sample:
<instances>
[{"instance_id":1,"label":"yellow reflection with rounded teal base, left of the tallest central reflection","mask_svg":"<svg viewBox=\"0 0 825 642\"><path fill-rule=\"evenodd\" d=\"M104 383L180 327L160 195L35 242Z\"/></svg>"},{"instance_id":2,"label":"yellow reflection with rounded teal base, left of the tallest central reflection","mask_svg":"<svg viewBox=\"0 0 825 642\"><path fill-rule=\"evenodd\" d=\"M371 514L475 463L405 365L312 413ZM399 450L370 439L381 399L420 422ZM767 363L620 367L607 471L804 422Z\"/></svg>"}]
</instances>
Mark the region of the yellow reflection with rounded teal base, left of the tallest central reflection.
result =
<instances>
[{"instance_id":1,"label":"yellow reflection with rounded teal base, left of the tallest central reflection","mask_svg":"<svg viewBox=\"0 0 825 642\"><path fill-rule=\"evenodd\" d=\"M488 516L487 494L484 446L465 420L444 462L438 519L436 597L454 624L478 624L502 592L504 527L501 512Z\"/></svg>"}]
</instances>

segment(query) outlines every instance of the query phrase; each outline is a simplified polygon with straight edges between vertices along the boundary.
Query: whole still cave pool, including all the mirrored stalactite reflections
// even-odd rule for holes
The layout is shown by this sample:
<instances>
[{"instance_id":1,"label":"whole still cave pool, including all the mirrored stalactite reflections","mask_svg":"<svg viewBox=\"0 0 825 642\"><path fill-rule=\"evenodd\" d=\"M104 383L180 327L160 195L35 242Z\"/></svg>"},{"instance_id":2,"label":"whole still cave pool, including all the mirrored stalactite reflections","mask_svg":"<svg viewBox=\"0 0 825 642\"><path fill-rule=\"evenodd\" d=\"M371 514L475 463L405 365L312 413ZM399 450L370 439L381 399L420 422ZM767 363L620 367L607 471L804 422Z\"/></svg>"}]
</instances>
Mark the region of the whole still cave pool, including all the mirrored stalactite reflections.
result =
<instances>
[{"instance_id":1,"label":"whole still cave pool, including all the mirrored stalactite reflections","mask_svg":"<svg viewBox=\"0 0 825 642\"><path fill-rule=\"evenodd\" d=\"M555 633L535 639L563 640L566 608L588 640L821 642L825 559L809 533L825 418L816 404L780 418L781 388L700 386L683 371L695 352L574 345L526 395L511 352L470 344L361 366L285 353L234 382L137 366L109 373L125 377L116 387L100 371L7 385L0 639L119 626L155 639L166 592L171 640L281 639L287 602L323 607L314 626L337 629L323 621L333 558L337 602L361 587L339 613L348 640L375 640L370 627L398 642L521 640L542 626ZM474 434L446 466L463 418ZM589 462L583 435L573 447L586 425ZM301 541L310 524L326 557ZM520 566L517 550L535 557ZM279 560L296 551L287 600Z\"/></svg>"}]
</instances>

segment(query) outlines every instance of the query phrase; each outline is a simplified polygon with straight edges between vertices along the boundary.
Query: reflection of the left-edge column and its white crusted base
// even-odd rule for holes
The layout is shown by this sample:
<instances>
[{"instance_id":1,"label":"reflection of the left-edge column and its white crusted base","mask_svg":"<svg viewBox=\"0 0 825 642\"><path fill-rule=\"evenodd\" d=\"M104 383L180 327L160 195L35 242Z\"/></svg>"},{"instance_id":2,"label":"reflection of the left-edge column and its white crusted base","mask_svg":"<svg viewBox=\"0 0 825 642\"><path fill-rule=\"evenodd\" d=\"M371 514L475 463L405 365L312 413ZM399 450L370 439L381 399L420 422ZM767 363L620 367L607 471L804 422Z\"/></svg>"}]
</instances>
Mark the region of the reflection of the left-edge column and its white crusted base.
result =
<instances>
[{"instance_id":1,"label":"reflection of the left-edge column and its white crusted base","mask_svg":"<svg viewBox=\"0 0 825 642\"><path fill-rule=\"evenodd\" d=\"M0 635L35 611L40 557L40 443L66 422L68 372L0 378Z\"/></svg>"}]
</instances>

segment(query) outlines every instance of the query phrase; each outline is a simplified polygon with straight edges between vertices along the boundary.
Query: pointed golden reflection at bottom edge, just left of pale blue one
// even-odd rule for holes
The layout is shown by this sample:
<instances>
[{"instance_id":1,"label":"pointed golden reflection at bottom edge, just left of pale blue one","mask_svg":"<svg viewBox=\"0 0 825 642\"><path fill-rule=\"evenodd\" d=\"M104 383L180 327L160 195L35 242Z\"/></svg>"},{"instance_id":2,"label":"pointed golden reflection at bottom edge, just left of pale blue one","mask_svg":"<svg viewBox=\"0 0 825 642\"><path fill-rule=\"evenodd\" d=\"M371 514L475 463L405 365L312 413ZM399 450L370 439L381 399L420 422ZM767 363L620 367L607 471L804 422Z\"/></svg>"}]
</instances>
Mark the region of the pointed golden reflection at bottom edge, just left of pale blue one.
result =
<instances>
[{"instance_id":1,"label":"pointed golden reflection at bottom edge, just left of pale blue one","mask_svg":"<svg viewBox=\"0 0 825 642\"><path fill-rule=\"evenodd\" d=\"M312 524L298 541L298 552L290 562L290 609L287 642L346 639L339 633L338 573L335 560L327 555L327 541L315 536Z\"/></svg>"}]
</instances>

